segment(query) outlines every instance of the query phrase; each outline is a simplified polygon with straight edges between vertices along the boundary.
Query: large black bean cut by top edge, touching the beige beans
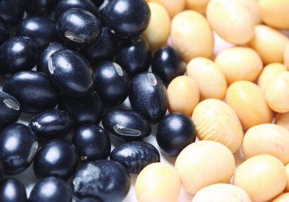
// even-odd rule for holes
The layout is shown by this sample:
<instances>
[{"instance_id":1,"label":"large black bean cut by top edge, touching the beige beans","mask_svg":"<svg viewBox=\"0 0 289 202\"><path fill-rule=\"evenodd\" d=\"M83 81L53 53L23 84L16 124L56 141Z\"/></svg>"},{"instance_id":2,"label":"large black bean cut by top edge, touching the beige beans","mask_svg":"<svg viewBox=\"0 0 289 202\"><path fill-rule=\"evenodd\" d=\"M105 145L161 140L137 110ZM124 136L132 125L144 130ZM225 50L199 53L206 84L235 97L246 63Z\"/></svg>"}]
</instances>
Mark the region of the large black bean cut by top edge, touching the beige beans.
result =
<instances>
[{"instance_id":1,"label":"large black bean cut by top edge, touching the beige beans","mask_svg":"<svg viewBox=\"0 0 289 202\"><path fill-rule=\"evenodd\" d=\"M139 35L148 27L151 11L143 0L112 0L102 11L105 25L119 37Z\"/></svg>"}]
</instances>

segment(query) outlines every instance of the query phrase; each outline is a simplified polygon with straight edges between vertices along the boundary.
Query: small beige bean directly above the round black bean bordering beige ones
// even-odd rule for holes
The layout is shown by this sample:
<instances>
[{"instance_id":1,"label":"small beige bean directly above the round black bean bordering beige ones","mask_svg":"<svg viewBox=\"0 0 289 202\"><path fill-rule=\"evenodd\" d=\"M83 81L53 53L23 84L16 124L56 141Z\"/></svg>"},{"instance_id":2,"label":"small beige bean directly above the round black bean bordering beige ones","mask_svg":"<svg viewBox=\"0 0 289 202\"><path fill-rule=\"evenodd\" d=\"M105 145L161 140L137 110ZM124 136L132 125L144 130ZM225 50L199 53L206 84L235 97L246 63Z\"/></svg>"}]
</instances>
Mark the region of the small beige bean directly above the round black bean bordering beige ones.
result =
<instances>
[{"instance_id":1,"label":"small beige bean directly above the round black bean bordering beige ones","mask_svg":"<svg viewBox=\"0 0 289 202\"><path fill-rule=\"evenodd\" d=\"M177 76L167 87L167 99L170 113L180 112L191 116L200 100L196 81L189 76Z\"/></svg>"}]
</instances>

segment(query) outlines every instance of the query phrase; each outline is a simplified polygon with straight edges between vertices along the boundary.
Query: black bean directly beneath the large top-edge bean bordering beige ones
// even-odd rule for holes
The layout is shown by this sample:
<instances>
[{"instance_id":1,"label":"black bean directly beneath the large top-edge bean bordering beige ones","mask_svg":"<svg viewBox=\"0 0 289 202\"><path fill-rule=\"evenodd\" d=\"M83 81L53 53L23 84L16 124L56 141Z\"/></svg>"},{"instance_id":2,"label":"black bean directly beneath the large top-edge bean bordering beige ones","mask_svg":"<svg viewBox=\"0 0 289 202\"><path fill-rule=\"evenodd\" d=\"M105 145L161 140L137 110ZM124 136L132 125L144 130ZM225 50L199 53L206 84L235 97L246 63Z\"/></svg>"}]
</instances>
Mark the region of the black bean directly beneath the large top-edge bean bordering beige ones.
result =
<instances>
[{"instance_id":1,"label":"black bean directly beneath the large top-edge bean bordering beige ones","mask_svg":"<svg viewBox=\"0 0 289 202\"><path fill-rule=\"evenodd\" d=\"M132 78L138 73L147 71L151 65L150 46L143 37L127 40L119 47L115 61Z\"/></svg>"}]
</instances>

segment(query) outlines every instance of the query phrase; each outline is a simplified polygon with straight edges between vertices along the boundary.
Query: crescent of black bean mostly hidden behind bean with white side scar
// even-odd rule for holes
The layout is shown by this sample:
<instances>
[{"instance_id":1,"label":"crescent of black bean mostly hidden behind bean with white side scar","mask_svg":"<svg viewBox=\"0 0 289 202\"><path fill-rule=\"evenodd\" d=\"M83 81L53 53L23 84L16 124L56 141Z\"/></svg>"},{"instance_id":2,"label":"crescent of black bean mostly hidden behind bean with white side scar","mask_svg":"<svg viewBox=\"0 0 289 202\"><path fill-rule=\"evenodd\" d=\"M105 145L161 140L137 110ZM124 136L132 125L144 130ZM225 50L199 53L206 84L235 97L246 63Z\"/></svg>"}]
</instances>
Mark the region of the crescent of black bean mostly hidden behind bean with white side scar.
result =
<instances>
[{"instance_id":1,"label":"crescent of black bean mostly hidden behind bean with white side scar","mask_svg":"<svg viewBox=\"0 0 289 202\"><path fill-rule=\"evenodd\" d=\"M36 66L37 71L47 73L49 75L48 59L52 54L54 54L54 52L57 52L61 49L66 49L66 46L59 42L50 43L49 46L46 47L40 54L40 57L38 59L38 63Z\"/></svg>"}]
</instances>

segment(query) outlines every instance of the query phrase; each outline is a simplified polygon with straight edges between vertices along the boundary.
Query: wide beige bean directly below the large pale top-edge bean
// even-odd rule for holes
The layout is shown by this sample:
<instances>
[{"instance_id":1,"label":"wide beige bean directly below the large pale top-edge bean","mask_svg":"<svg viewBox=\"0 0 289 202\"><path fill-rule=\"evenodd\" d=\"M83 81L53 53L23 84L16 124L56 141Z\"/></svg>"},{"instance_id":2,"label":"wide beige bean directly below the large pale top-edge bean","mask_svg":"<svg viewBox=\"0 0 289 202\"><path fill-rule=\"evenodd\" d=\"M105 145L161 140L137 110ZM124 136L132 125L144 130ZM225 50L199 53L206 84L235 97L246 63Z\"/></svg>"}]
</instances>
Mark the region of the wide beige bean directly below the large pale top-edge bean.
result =
<instances>
[{"instance_id":1,"label":"wide beige bean directly below the large pale top-edge bean","mask_svg":"<svg viewBox=\"0 0 289 202\"><path fill-rule=\"evenodd\" d=\"M220 52L215 64L225 75L228 84L235 81L255 81L263 69L259 55L248 47L232 47ZM233 68L232 68L233 67Z\"/></svg>"}]
</instances>

